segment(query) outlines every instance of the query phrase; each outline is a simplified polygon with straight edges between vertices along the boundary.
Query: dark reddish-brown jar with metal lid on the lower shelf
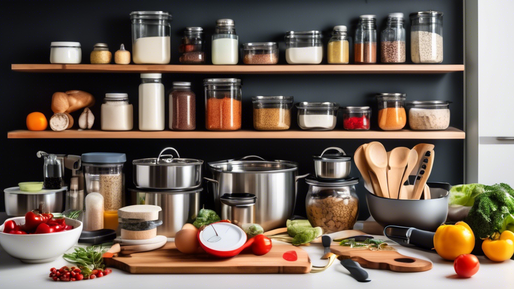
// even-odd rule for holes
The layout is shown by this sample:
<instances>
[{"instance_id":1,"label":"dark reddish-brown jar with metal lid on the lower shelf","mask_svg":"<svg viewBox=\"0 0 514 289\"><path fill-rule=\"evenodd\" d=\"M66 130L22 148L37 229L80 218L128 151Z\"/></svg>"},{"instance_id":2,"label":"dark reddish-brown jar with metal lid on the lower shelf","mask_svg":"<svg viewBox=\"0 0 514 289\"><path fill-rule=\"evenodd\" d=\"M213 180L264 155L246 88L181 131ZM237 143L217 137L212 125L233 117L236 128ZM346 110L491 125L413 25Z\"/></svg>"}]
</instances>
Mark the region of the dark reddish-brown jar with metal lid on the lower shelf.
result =
<instances>
[{"instance_id":1,"label":"dark reddish-brown jar with metal lid on the lower shelf","mask_svg":"<svg viewBox=\"0 0 514 289\"><path fill-rule=\"evenodd\" d=\"M170 129L192 131L196 128L196 96L191 82L173 82L170 93Z\"/></svg>"}]
</instances>

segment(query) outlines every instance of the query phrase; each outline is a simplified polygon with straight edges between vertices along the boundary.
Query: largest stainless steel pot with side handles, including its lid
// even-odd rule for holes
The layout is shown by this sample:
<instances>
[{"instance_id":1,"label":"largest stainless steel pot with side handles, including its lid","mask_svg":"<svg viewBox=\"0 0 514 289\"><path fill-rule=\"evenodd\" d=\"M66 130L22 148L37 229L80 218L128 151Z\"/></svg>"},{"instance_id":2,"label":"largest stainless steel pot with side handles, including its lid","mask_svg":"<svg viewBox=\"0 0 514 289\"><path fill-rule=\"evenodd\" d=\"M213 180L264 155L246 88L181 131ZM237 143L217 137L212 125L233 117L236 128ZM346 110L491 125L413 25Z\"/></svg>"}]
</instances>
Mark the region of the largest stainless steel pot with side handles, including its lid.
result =
<instances>
[{"instance_id":1,"label":"largest stainless steel pot with side handles, including its lid","mask_svg":"<svg viewBox=\"0 0 514 289\"><path fill-rule=\"evenodd\" d=\"M254 157L258 160L248 160ZM209 162L216 211L220 211L219 196L231 193L250 193L257 197L255 222L265 231L284 227L295 209L298 163L286 160L264 160L246 156Z\"/></svg>"}]
</instances>

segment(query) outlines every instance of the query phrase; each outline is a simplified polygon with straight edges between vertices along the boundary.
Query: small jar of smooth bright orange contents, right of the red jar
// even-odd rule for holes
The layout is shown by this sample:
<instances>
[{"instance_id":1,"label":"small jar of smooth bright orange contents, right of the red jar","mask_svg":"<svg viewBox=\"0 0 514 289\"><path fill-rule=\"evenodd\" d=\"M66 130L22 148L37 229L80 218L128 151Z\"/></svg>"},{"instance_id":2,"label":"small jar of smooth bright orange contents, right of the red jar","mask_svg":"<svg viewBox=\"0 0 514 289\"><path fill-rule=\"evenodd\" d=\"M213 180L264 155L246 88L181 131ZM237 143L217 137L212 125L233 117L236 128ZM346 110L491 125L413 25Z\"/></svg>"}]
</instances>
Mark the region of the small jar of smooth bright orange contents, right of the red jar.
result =
<instances>
[{"instance_id":1,"label":"small jar of smooth bright orange contents, right of the red jar","mask_svg":"<svg viewBox=\"0 0 514 289\"><path fill-rule=\"evenodd\" d=\"M401 130L407 123L407 115L403 102L406 94L381 93L377 94L378 127L384 131Z\"/></svg>"}]
</instances>

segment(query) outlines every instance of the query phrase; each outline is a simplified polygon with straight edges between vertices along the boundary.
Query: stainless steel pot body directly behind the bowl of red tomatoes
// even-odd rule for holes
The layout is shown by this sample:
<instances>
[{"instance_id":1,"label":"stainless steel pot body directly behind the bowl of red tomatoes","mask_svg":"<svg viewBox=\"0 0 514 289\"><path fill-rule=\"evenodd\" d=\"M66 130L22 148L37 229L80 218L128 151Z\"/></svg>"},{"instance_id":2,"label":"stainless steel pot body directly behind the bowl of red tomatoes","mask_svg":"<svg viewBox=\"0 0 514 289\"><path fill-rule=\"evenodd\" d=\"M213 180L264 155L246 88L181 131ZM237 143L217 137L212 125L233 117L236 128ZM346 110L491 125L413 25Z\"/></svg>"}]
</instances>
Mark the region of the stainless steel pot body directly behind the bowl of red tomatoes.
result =
<instances>
[{"instance_id":1,"label":"stainless steel pot body directly behind the bowl of red tomatoes","mask_svg":"<svg viewBox=\"0 0 514 289\"><path fill-rule=\"evenodd\" d=\"M5 211L9 216L24 216L28 211L39 208L47 212L62 213L66 205L67 187L56 190L41 190L39 192L23 192L19 187L4 190Z\"/></svg>"}]
</instances>

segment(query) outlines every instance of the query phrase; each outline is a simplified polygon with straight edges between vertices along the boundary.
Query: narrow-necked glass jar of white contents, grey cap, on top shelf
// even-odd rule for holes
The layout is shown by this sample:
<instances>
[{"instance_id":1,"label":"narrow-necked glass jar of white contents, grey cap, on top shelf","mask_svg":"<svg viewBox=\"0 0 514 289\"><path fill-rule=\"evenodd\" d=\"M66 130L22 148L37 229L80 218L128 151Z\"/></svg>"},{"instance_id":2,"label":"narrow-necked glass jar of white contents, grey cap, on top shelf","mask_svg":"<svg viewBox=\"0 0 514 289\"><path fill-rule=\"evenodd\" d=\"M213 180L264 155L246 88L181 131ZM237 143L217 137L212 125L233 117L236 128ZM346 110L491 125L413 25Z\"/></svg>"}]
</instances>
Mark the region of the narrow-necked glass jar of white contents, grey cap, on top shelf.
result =
<instances>
[{"instance_id":1,"label":"narrow-necked glass jar of white contents, grey cap, on top shelf","mask_svg":"<svg viewBox=\"0 0 514 289\"><path fill-rule=\"evenodd\" d=\"M238 37L232 19L219 19L212 35L212 64L237 64Z\"/></svg>"}]
</instances>

